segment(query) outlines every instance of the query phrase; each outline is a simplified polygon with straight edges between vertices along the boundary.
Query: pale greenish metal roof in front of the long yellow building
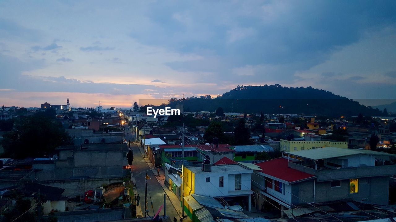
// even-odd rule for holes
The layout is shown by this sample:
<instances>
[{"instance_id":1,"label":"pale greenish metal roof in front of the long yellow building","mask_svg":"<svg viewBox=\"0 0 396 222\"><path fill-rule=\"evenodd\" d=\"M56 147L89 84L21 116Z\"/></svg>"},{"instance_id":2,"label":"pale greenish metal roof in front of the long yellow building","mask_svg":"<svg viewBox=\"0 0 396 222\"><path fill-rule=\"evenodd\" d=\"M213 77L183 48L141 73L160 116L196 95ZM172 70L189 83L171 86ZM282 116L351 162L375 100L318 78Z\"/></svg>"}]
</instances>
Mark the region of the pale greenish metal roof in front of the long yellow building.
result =
<instances>
[{"instance_id":1,"label":"pale greenish metal roof in front of the long yellow building","mask_svg":"<svg viewBox=\"0 0 396 222\"><path fill-rule=\"evenodd\" d=\"M357 150L357 149L344 149L338 147L324 147L320 149L310 149L303 151L286 152L293 156L299 156L311 160L321 160L327 158L334 158L340 156L350 156L356 154L372 154L372 155L385 155L385 156L396 156L395 154L388 154L385 152L369 151L369 150Z\"/></svg>"}]
</instances>

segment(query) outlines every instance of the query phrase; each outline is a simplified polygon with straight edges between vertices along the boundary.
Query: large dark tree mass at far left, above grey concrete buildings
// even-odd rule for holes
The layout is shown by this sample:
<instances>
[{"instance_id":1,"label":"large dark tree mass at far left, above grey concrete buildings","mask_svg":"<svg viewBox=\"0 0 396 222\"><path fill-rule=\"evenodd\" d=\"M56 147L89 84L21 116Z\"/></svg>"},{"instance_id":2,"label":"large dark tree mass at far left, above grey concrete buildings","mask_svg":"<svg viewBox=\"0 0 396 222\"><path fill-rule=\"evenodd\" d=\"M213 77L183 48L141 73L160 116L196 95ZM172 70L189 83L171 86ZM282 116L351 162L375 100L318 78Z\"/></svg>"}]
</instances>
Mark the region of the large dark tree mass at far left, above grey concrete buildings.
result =
<instances>
[{"instance_id":1,"label":"large dark tree mass at far left, above grey concrete buildings","mask_svg":"<svg viewBox=\"0 0 396 222\"><path fill-rule=\"evenodd\" d=\"M70 143L70 137L60 122L45 113L19 117L14 130L3 135L4 156L11 158L51 155L56 147Z\"/></svg>"}]
</instances>

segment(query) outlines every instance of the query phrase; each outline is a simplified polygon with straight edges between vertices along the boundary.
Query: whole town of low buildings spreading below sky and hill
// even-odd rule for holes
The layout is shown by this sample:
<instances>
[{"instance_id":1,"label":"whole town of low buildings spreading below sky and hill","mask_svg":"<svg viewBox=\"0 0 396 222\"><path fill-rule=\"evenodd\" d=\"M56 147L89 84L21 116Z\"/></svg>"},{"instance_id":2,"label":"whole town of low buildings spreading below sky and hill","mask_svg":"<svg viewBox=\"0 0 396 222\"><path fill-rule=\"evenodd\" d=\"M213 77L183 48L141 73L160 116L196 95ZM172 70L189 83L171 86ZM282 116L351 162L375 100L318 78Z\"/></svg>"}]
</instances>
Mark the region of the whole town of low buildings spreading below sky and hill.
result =
<instances>
[{"instance_id":1,"label":"whole town of low buildings spreading below sky and hill","mask_svg":"<svg viewBox=\"0 0 396 222\"><path fill-rule=\"evenodd\" d=\"M394 217L391 112L326 119L178 104L181 115L155 118L146 107L3 106L2 218L29 209L23 221Z\"/></svg>"}]
</instances>

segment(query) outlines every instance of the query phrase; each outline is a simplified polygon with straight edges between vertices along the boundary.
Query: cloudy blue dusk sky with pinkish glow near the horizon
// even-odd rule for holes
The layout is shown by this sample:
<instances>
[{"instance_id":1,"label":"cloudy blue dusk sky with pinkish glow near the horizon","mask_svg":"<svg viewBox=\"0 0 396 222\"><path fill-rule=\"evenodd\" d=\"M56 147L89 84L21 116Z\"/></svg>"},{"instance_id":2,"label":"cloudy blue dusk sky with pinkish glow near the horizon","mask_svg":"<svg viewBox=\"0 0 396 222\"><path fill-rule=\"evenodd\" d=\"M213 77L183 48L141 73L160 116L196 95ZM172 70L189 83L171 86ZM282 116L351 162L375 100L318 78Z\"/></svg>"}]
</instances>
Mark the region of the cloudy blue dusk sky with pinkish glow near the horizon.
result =
<instances>
[{"instance_id":1,"label":"cloudy blue dusk sky with pinkish glow near the horizon","mask_svg":"<svg viewBox=\"0 0 396 222\"><path fill-rule=\"evenodd\" d=\"M396 99L395 11L394 0L2 0L0 103L130 107L265 84Z\"/></svg>"}]
</instances>

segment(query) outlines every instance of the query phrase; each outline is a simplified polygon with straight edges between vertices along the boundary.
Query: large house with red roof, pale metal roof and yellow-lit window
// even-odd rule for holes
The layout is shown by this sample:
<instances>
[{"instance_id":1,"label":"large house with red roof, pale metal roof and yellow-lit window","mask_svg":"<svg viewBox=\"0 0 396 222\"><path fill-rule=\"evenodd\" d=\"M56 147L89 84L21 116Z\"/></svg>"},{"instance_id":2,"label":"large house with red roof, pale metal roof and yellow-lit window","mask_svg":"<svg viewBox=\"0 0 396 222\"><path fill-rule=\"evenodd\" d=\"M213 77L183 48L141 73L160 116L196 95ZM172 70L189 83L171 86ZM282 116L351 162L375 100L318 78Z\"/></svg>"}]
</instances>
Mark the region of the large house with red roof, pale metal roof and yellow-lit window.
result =
<instances>
[{"instance_id":1,"label":"large house with red roof, pale metal roof and yellow-lit window","mask_svg":"<svg viewBox=\"0 0 396 222\"><path fill-rule=\"evenodd\" d=\"M346 200L388 205L389 177L396 172L392 158L396 155L338 147L284 152L255 164L257 210L267 201L282 210Z\"/></svg>"}]
</instances>

